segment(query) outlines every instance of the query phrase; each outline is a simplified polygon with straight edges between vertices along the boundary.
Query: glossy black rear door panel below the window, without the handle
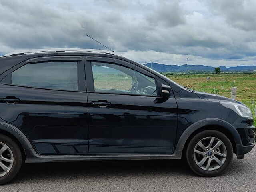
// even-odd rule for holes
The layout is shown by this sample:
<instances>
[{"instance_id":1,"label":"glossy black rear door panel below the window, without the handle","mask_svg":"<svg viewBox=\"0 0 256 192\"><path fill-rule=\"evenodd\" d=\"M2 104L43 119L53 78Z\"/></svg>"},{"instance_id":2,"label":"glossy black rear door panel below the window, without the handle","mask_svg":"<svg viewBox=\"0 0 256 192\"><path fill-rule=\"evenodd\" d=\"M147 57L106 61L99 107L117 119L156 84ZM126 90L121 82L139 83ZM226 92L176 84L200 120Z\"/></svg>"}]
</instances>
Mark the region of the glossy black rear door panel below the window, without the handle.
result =
<instances>
[{"instance_id":1,"label":"glossy black rear door panel below the window, without the handle","mask_svg":"<svg viewBox=\"0 0 256 192\"><path fill-rule=\"evenodd\" d=\"M26 62L14 67L23 66ZM84 77L84 61L78 61ZM82 67L81 67L82 66ZM83 85L81 85L83 84ZM78 85L85 90L85 80ZM2 84L0 117L27 136L39 154L87 154L87 96L84 91L62 91Z\"/></svg>"}]
</instances>

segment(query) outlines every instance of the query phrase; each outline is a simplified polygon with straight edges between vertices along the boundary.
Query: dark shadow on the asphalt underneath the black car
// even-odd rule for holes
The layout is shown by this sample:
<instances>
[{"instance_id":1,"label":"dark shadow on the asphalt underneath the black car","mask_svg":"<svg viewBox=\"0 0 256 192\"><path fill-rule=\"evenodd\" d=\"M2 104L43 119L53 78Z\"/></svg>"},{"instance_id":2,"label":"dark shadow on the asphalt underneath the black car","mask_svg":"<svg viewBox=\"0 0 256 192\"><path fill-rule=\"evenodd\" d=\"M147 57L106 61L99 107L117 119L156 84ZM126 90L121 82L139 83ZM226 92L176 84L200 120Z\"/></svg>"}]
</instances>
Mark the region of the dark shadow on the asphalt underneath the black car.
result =
<instances>
[{"instance_id":1,"label":"dark shadow on the asphalt underneath the black car","mask_svg":"<svg viewBox=\"0 0 256 192\"><path fill-rule=\"evenodd\" d=\"M244 169L243 163L234 160L226 174L234 174ZM84 161L24 164L11 183L19 182L75 182L129 177L149 178L152 176L188 178L198 177L184 160L120 160Z\"/></svg>"}]
</instances>

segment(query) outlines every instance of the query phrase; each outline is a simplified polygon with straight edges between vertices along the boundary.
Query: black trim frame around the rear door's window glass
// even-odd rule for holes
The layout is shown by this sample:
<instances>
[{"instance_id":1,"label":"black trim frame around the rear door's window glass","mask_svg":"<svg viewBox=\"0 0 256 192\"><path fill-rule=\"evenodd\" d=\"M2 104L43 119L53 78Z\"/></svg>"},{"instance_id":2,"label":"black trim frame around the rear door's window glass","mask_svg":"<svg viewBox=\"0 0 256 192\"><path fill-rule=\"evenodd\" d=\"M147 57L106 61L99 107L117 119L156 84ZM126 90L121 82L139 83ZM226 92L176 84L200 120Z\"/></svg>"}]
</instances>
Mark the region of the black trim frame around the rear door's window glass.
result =
<instances>
[{"instance_id":1,"label":"black trim frame around the rear door's window glass","mask_svg":"<svg viewBox=\"0 0 256 192\"><path fill-rule=\"evenodd\" d=\"M51 56L49 59L52 59L54 56ZM8 81L11 82L12 79L12 72L18 70L19 68L25 66L26 64L29 64L30 62L21 62L17 64L16 66L10 68L6 72L4 72L1 76L1 84L8 85L8 86L16 86L16 87L25 87L25 88L34 88L34 89L43 89L43 90L56 90L56 91L68 91L68 92L86 92L86 80L85 80L85 66L84 66L84 60L66 60L66 56L56 56L58 59L52 59L52 60L44 60L43 62L76 62L77 63L77 84L78 84L78 90L67 90L67 89L52 89L52 88L41 88L41 87L33 87L33 86L24 86L20 84L12 84L12 83L4 83L3 79L8 77ZM81 57L81 56L80 56ZM62 58L62 59L60 59ZM75 58L75 57L74 57ZM33 62L33 64L40 64L42 62ZM31 63L32 64L32 63Z\"/></svg>"}]
</instances>

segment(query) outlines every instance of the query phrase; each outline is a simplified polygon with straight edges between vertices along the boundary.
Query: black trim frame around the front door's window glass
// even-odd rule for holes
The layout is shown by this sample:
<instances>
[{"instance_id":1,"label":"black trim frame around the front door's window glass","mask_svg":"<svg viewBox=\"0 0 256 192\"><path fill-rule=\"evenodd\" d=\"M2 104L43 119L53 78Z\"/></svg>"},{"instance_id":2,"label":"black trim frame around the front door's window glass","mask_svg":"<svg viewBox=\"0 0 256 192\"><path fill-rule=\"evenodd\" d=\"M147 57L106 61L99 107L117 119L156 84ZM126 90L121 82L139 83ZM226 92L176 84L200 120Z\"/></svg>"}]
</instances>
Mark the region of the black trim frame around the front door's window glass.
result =
<instances>
[{"instance_id":1,"label":"black trim frame around the front door's window glass","mask_svg":"<svg viewBox=\"0 0 256 192\"><path fill-rule=\"evenodd\" d=\"M87 92L88 93L97 93L97 94L114 94L114 95L130 95L130 96L146 96L146 97L154 97L154 98L158 98L159 95L158 95L158 90L159 90L159 87L158 87L158 80L157 80L157 77L154 75L154 74L150 74L148 75L148 72L147 74L143 73L142 69L140 69L139 67L136 66L136 68L138 69L134 69L133 65L128 63L128 62L125 62L126 65L124 65L124 62L123 61L120 61L120 62L116 62L117 59L115 59L114 61L105 61L105 60L85 60L85 68L86 68L86 82L90 82L88 84L86 84L86 87L87 87ZM118 61L118 60L117 60ZM154 78L155 80L155 85L156 85L156 93L157 95L142 95L142 94L126 94L126 93L109 93L109 92L96 92L95 91L95 88L94 88L94 79L93 79L93 72L92 72L92 62L95 62L95 63L108 63L108 64L116 64L116 65L119 65L119 66L123 66L123 67L126 67L126 68L131 68L132 70L134 71L137 71L145 76L148 76L148 77L151 77L151 78Z\"/></svg>"}]
</instances>

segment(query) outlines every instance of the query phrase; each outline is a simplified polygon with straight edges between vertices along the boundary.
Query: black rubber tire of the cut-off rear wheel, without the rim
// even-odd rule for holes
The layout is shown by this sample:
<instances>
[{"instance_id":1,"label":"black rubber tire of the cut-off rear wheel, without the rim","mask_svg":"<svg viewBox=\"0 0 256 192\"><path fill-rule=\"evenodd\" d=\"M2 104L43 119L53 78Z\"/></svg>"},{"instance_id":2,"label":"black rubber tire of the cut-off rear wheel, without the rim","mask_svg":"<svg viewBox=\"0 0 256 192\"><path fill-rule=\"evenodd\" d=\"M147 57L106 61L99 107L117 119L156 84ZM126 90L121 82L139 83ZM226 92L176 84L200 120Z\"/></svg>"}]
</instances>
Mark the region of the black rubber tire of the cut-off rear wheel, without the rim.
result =
<instances>
[{"instance_id":1,"label":"black rubber tire of the cut-off rear wheel, without the rim","mask_svg":"<svg viewBox=\"0 0 256 192\"><path fill-rule=\"evenodd\" d=\"M22 154L20 152L19 146L11 138L0 134L0 142L7 145L13 154L12 168L6 175L0 177L0 185L2 185L12 180L18 174L20 167L22 165ZM2 148L2 146L0 146L0 148ZM3 171L2 168L1 170Z\"/></svg>"}]
</instances>

